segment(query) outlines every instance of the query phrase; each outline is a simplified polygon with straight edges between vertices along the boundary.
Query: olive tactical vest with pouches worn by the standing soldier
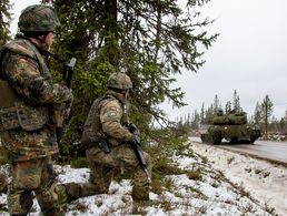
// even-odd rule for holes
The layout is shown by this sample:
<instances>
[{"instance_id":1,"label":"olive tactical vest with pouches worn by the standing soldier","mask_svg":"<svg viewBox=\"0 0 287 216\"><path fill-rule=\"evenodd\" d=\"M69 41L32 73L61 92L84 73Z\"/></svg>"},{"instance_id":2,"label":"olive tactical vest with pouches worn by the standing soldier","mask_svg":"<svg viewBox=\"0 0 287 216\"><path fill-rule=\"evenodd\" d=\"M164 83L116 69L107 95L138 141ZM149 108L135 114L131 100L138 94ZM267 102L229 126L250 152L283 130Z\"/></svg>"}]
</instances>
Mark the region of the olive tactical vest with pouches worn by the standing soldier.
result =
<instances>
[{"instance_id":1,"label":"olive tactical vest with pouches worn by the standing soldier","mask_svg":"<svg viewBox=\"0 0 287 216\"><path fill-rule=\"evenodd\" d=\"M42 55L28 40L18 39L6 44L0 52L0 130L22 127L26 131L41 128L48 121L48 109L26 103L11 88L3 71L4 55L13 52L38 62L40 73L44 79L51 79Z\"/></svg>"}]
</instances>

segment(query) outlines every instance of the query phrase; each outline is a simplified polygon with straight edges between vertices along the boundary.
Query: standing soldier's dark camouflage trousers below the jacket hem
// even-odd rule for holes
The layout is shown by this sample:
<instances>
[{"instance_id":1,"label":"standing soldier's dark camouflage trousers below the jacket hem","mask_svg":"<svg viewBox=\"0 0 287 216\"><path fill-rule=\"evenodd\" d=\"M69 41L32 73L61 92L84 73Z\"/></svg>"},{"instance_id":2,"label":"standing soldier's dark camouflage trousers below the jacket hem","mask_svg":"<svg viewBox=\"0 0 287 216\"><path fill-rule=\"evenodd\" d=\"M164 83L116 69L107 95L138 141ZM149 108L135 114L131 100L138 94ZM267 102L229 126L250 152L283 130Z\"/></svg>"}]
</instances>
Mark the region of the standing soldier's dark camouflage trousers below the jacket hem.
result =
<instances>
[{"instance_id":1,"label":"standing soldier's dark camouflage trousers below the jacket hem","mask_svg":"<svg viewBox=\"0 0 287 216\"><path fill-rule=\"evenodd\" d=\"M32 192L43 215L61 215L50 157L13 162L11 176L12 181L8 186L8 209L11 215L29 214L34 198Z\"/></svg>"}]
</instances>

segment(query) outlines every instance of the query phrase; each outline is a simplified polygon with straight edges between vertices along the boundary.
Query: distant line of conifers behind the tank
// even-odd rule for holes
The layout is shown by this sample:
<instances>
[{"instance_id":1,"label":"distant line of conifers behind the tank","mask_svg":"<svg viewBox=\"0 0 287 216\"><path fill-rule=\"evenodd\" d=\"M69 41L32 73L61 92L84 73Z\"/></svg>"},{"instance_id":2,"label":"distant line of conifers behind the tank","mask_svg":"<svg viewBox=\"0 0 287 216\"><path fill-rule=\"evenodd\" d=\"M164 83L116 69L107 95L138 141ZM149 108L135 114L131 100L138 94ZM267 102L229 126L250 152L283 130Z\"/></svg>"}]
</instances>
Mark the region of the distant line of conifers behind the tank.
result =
<instances>
[{"instance_id":1,"label":"distant line of conifers behind the tank","mask_svg":"<svg viewBox=\"0 0 287 216\"><path fill-rule=\"evenodd\" d=\"M209 120L215 116L218 111L221 110L225 114L231 112L244 112L240 105L240 96L237 91L234 91L232 99L227 101L226 104L221 104L219 96L216 94L214 102L206 109L202 103L201 110L195 110L191 114L188 113L184 117L178 117L178 125L187 127L194 131L198 131L202 125L207 125ZM287 117L283 116L277 120L274 115L274 103L268 94L257 102L253 115L248 119L249 124L259 125L264 133L280 133L287 134Z\"/></svg>"}]
</instances>

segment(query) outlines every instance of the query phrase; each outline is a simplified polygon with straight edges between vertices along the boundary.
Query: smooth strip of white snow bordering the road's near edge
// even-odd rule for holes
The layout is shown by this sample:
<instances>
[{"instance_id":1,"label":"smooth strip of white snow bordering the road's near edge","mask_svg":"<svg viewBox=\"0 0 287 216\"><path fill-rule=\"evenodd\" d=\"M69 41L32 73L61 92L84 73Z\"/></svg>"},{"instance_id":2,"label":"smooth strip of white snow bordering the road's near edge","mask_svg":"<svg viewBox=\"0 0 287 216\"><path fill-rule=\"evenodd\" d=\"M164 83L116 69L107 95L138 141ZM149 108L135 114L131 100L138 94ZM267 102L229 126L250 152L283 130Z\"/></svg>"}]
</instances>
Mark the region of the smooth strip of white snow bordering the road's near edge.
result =
<instances>
[{"instance_id":1,"label":"smooth strip of white snow bordering the road's near edge","mask_svg":"<svg viewBox=\"0 0 287 216\"><path fill-rule=\"evenodd\" d=\"M241 185L261 205L274 207L278 215L287 215L287 168L264 160L232 153L218 147L195 143L191 147L208 157L211 166Z\"/></svg>"}]
</instances>

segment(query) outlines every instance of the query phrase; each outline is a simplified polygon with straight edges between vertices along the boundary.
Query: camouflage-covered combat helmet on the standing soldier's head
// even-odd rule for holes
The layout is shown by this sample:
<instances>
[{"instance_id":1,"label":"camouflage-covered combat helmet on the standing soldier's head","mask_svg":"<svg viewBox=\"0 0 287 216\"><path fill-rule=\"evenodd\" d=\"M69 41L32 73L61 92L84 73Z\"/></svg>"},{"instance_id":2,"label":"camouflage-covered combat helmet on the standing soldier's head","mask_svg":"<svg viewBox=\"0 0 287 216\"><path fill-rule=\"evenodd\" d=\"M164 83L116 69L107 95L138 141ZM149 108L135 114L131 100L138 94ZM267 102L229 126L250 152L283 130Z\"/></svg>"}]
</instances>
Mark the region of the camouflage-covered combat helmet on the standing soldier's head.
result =
<instances>
[{"instance_id":1,"label":"camouflage-covered combat helmet on the standing soldier's head","mask_svg":"<svg viewBox=\"0 0 287 216\"><path fill-rule=\"evenodd\" d=\"M27 7L20 14L18 28L20 32L49 32L60 25L52 7L34 4Z\"/></svg>"}]
</instances>

